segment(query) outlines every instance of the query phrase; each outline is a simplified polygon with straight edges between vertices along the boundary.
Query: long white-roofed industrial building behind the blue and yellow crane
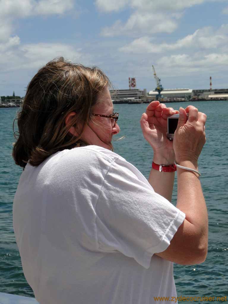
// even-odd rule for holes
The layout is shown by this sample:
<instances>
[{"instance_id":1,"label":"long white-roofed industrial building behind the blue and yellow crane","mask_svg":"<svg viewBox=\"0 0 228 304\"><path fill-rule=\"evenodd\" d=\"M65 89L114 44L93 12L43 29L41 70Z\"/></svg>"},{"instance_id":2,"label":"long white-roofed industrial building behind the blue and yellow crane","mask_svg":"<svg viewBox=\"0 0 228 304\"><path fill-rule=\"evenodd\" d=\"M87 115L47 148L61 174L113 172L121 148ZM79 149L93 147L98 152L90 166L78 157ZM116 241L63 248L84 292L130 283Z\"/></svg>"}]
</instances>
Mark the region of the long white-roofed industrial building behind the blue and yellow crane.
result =
<instances>
[{"instance_id":1,"label":"long white-roofed industrial building behind the blue and yellow crane","mask_svg":"<svg viewBox=\"0 0 228 304\"><path fill-rule=\"evenodd\" d=\"M157 91L150 91L148 95L155 98ZM189 100L194 94L192 89L165 89L161 91L161 95L165 100Z\"/></svg>"}]
</instances>

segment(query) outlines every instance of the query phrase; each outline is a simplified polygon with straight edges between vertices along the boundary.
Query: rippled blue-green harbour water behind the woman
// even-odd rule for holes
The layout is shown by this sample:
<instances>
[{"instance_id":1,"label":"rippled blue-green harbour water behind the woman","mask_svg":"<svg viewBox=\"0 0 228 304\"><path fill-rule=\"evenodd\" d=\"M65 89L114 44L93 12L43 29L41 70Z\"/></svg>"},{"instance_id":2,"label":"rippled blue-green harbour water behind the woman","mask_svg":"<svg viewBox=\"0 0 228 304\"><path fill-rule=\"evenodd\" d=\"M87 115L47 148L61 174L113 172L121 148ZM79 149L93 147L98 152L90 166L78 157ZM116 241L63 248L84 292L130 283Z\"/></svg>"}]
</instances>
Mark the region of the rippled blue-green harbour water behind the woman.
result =
<instances>
[{"instance_id":1,"label":"rippled blue-green harbour water behind the woman","mask_svg":"<svg viewBox=\"0 0 228 304\"><path fill-rule=\"evenodd\" d=\"M167 103L174 109L186 107L187 102ZM207 114L207 142L199 158L199 171L209 213L209 248L206 261L200 265L174 264L174 278L178 296L203 297L227 296L228 301L228 102L194 102ZM119 112L120 136L113 142L115 152L135 165L146 178L149 176L153 151L144 140L140 129L140 116L147 104L115 105ZM14 142L12 122L17 108L0 109L0 292L34 297L23 275L21 260L12 226L12 202L22 169L12 160ZM172 202L177 199L174 184ZM180 300L178 302L181 302Z\"/></svg>"}]
</instances>

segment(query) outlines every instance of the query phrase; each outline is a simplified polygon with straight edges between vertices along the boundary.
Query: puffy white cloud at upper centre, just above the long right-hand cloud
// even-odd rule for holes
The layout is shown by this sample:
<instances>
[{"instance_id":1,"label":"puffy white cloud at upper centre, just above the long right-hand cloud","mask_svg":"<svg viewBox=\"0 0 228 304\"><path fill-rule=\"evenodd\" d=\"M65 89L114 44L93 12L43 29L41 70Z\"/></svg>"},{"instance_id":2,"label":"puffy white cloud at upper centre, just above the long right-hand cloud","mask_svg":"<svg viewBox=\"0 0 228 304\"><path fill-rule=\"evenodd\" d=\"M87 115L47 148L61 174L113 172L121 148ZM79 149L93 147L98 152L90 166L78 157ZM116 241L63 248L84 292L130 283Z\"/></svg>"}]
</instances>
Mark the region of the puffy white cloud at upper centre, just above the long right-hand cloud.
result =
<instances>
[{"instance_id":1,"label":"puffy white cloud at upper centre, just above the long right-hand cloud","mask_svg":"<svg viewBox=\"0 0 228 304\"><path fill-rule=\"evenodd\" d=\"M125 24L117 20L111 27L102 29L102 36L138 36L142 33L171 33L177 28L177 23L162 13L135 12Z\"/></svg>"}]
</instances>

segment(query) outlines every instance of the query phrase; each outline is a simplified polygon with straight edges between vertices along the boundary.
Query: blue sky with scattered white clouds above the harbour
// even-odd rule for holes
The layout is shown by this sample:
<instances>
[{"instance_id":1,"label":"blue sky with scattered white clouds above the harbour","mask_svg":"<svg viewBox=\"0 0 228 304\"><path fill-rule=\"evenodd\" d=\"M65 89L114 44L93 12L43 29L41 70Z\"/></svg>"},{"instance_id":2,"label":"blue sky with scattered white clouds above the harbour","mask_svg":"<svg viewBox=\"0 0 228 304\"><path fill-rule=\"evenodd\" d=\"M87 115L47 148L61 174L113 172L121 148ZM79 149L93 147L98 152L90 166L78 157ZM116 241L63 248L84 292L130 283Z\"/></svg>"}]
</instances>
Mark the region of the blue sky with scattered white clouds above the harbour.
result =
<instances>
[{"instance_id":1,"label":"blue sky with scattered white clouds above the harbour","mask_svg":"<svg viewBox=\"0 0 228 304\"><path fill-rule=\"evenodd\" d=\"M0 0L0 96L24 96L55 57L114 88L228 88L228 0Z\"/></svg>"}]
</instances>

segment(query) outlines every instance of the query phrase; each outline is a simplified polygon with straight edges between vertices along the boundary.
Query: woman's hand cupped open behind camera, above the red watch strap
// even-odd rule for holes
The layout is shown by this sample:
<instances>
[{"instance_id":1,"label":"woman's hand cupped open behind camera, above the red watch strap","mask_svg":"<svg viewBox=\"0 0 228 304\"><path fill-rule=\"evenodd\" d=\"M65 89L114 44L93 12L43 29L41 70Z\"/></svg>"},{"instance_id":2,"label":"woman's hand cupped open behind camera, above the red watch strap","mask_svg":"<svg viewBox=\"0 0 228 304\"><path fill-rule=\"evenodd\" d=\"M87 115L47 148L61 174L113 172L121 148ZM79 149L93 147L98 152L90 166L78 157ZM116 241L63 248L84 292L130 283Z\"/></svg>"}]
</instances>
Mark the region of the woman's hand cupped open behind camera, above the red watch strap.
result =
<instances>
[{"instance_id":1,"label":"woman's hand cupped open behind camera, above the red watch strap","mask_svg":"<svg viewBox=\"0 0 228 304\"><path fill-rule=\"evenodd\" d=\"M153 148L154 162L157 164L173 164L175 161L173 141L166 136L167 117L178 113L159 101L152 101L140 119L143 136Z\"/></svg>"}]
</instances>

